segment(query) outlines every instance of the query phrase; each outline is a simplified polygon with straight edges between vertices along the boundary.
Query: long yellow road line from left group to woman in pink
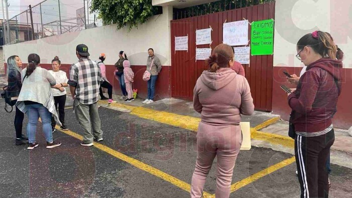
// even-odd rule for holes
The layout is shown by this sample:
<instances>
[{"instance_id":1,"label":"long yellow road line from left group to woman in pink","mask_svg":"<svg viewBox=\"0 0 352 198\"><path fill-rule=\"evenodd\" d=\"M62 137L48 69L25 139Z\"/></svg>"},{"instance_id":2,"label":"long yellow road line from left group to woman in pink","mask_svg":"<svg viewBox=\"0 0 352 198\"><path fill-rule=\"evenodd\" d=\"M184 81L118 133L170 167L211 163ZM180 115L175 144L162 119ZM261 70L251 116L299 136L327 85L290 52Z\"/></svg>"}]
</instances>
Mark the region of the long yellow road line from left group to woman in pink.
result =
<instances>
[{"instance_id":1,"label":"long yellow road line from left group to woman in pink","mask_svg":"<svg viewBox=\"0 0 352 198\"><path fill-rule=\"evenodd\" d=\"M57 130L61 131L62 133L65 133L65 134L67 134L69 136L72 136L72 137L74 137L74 138L76 138L78 140L83 140L83 137L81 135L77 134L77 133L74 133L74 132L72 132L70 130L62 131L62 130L60 130L60 127L58 125L56 125L55 128ZM191 185L190 184L188 184L188 183L186 183L186 182L184 182L184 181L182 181L182 180L180 180L180 179L178 179L178 178L176 178L174 176L171 176L171 175L169 175L169 174L167 174L165 172L162 172L161 170L156 169L156 168L154 168L154 167L152 167L152 166L150 166L148 164L145 164L145 163L143 163L141 161L138 161L138 160L136 160L136 159L134 159L132 157L129 157L129 156L125 155L125 154L122 154L122 153L120 153L120 152L118 152L118 151L116 151L114 149L111 149L111 148L109 148L109 147L107 147L107 146L105 146L103 144L95 142L94 146L96 148L106 152L106 153L109 153L110 155L112 155L112 156L114 156L114 157L116 157L116 158L118 158L120 160L123 160L123 161L135 166L136 168L144 170L144 171L146 171L146 172L148 172L148 173L150 173L150 174L152 174L154 176L157 176L157 177L159 177L159 178L161 178L161 179L163 179L165 181L168 181L169 183L171 183L171 184L173 184L175 186L178 186L179 188L181 188L183 190L191 192ZM205 197L212 197L211 194L208 193L208 192L204 192L204 195L205 195Z\"/></svg>"}]
</instances>

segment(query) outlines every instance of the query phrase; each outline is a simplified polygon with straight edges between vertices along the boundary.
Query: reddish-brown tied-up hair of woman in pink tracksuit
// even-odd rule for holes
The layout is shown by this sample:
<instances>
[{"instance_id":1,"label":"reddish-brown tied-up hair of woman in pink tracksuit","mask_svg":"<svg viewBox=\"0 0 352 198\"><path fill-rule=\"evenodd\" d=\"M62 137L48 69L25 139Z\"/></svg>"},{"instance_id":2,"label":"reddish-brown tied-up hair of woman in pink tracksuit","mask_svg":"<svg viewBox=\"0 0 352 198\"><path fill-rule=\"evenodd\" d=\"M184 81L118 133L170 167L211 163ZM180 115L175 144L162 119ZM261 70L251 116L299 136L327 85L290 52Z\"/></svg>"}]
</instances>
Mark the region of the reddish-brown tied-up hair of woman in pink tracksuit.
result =
<instances>
[{"instance_id":1,"label":"reddish-brown tied-up hair of woman in pink tracksuit","mask_svg":"<svg viewBox=\"0 0 352 198\"><path fill-rule=\"evenodd\" d=\"M220 68L229 67L229 61L234 59L234 53L231 46L226 44L220 44L216 46L213 53L206 60L206 64L209 65L210 72L216 72Z\"/></svg>"}]
</instances>

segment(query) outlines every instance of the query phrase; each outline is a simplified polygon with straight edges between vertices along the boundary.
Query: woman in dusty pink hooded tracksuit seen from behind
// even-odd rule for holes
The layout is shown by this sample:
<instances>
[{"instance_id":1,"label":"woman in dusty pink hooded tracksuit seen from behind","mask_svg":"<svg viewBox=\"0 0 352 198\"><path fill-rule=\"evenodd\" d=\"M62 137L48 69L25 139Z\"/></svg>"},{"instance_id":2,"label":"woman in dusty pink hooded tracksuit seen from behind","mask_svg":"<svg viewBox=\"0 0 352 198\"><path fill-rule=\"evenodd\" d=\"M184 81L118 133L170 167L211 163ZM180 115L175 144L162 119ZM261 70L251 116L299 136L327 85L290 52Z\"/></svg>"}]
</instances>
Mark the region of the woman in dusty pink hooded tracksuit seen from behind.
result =
<instances>
[{"instance_id":1,"label":"woman in dusty pink hooded tracksuit seen from behind","mask_svg":"<svg viewBox=\"0 0 352 198\"><path fill-rule=\"evenodd\" d=\"M191 197L201 197L217 156L216 197L229 197L236 157L242 144L241 115L254 111L249 84L230 67L232 48L218 45L194 88L194 109L201 114L197 133L197 162L192 177Z\"/></svg>"}]
</instances>

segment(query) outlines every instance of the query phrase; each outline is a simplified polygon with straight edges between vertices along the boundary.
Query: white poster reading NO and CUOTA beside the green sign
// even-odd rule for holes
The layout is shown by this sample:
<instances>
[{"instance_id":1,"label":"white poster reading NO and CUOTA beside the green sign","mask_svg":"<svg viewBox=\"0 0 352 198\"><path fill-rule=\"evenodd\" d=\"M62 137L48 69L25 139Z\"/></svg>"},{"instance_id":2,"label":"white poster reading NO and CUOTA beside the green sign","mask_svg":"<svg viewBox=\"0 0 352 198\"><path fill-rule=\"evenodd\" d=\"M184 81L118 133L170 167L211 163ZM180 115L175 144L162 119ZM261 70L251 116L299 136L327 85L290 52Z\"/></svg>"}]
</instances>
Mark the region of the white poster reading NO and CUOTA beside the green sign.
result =
<instances>
[{"instance_id":1,"label":"white poster reading NO and CUOTA beside the green sign","mask_svg":"<svg viewBox=\"0 0 352 198\"><path fill-rule=\"evenodd\" d=\"M248 44L248 21L224 23L222 29L223 43L231 46Z\"/></svg>"}]
</instances>

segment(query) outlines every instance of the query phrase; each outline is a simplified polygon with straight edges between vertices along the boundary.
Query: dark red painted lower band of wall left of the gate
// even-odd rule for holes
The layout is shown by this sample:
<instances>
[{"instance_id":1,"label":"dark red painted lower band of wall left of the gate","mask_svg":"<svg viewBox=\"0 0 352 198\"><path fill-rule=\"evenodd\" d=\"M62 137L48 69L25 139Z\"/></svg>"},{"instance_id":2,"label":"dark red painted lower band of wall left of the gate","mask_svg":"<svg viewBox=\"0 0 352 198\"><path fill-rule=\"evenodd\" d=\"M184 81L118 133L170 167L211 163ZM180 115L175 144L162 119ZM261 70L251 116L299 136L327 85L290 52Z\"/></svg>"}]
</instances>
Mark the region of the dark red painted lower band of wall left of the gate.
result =
<instances>
[{"instance_id":1,"label":"dark red painted lower band of wall left of the gate","mask_svg":"<svg viewBox=\"0 0 352 198\"><path fill-rule=\"evenodd\" d=\"M27 64L23 64L24 68ZM41 67L46 68L48 70L51 69L51 64L40 64ZM70 68L70 64L61 64L60 70L67 73ZM146 70L145 65L132 65L131 66L134 72L134 82L133 88L138 89L138 97L146 98L147 97L147 82L143 81L142 76L144 71ZM115 66L114 65L106 65L106 73L107 78L110 83L113 85L113 93L114 94L122 94L119 81L114 77ZM156 81L154 101L161 100L163 98L170 98L170 67L163 66L160 74L158 75L158 79Z\"/></svg>"}]
</instances>

